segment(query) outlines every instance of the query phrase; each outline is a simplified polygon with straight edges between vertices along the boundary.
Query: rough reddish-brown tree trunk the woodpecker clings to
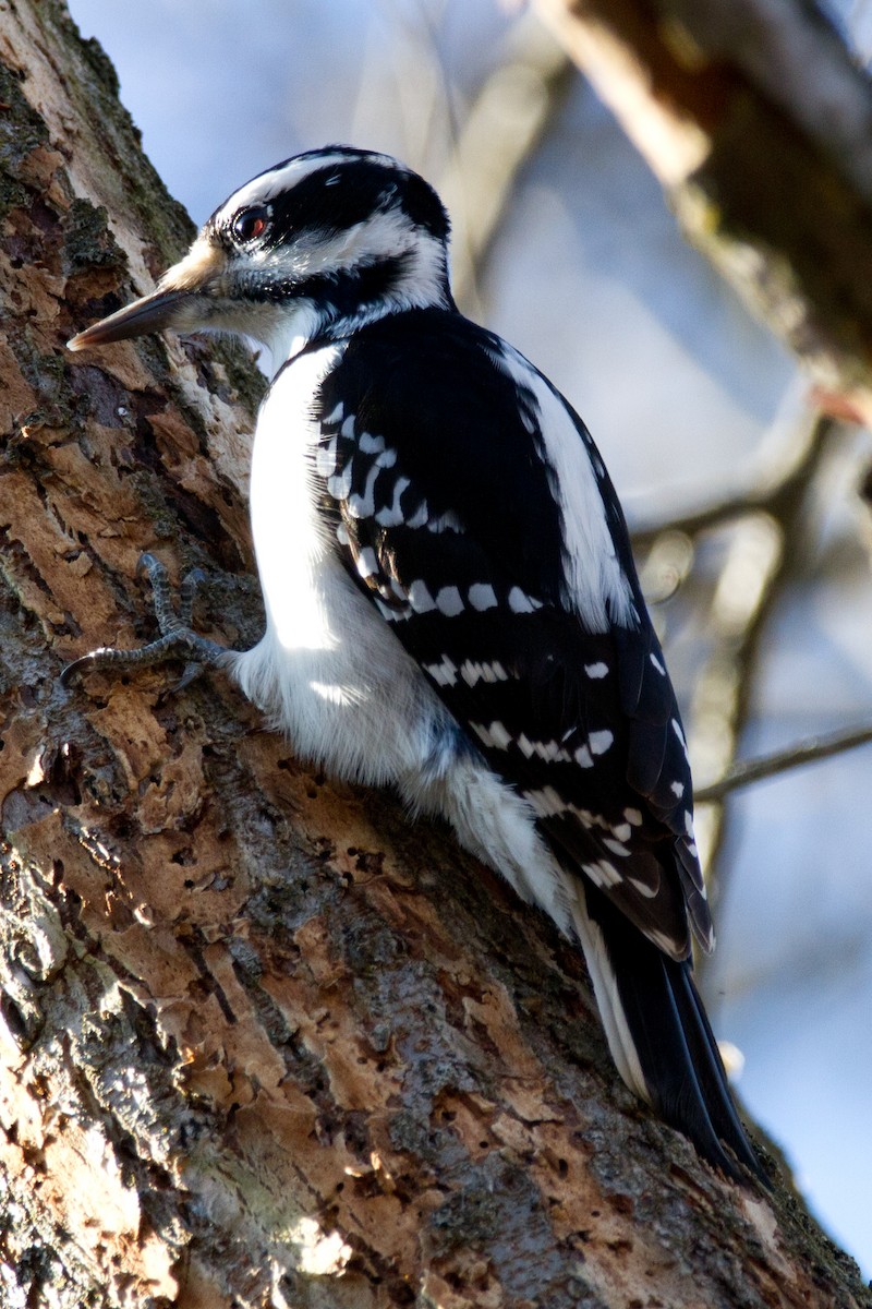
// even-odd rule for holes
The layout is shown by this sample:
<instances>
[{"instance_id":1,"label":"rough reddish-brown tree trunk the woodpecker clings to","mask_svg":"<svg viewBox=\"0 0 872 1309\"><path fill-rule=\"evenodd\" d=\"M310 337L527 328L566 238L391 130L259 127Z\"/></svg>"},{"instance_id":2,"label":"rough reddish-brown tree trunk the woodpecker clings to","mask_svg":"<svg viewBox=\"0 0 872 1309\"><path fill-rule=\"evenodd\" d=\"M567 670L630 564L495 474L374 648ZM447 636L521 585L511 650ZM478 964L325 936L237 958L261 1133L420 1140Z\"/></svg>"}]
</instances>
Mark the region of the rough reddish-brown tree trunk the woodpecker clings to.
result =
<instances>
[{"instance_id":1,"label":"rough reddish-brown tree trunk the woodpecker clings to","mask_svg":"<svg viewBox=\"0 0 872 1309\"><path fill-rule=\"evenodd\" d=\"M144 548L258 634L241 355L63 342L190 228L60 0L0 4L0 1302L856 1305L786 1192L621 1086L579 956L153 634ZM5 1295L5 1300L3 1299Z\"/></svg>"}]
</instances>

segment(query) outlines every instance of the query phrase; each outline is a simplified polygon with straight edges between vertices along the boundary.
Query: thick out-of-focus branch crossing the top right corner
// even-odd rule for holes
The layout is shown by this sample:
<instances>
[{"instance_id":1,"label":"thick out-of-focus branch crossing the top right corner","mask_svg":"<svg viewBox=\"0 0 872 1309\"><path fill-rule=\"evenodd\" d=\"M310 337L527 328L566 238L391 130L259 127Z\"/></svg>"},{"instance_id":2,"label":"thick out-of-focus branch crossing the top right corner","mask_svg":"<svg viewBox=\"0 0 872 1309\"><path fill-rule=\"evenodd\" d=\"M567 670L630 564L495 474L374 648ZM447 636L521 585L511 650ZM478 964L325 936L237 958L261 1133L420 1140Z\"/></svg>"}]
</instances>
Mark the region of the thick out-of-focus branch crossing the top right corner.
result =
<instances>
[{"instance_id":1,"label":"thick out-of-focus branch crossing the top right corner","mask_svg":"<svg viewBox=\"0 0 872 1309\"><path fill-rule=\"evenodd\" d=\"M842 408L872 421L872 81L812 0L536 9L689 240Z\"/></svg>"}]
</instances>

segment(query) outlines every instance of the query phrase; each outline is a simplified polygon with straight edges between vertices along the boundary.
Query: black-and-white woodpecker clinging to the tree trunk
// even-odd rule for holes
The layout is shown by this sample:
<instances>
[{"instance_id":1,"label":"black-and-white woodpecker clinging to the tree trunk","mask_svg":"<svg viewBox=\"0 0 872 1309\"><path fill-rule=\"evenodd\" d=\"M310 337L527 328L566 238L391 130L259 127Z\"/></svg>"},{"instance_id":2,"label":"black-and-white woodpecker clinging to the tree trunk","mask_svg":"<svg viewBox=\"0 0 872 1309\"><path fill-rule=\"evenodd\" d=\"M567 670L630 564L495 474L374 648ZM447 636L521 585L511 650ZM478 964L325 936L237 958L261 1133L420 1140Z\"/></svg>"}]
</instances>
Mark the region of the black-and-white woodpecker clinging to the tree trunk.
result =
<instances>
[{"instance_id":1,"label":"black-and-white woodpecker clinging to the tree trunk","mask_svg":"<svg viewBox=\"0 0 872 1309\"><path fill-rule=\"evenodd\" d=\"M69 348L165 329L268 347L267 628L188 648L302 758L442 814L582 948L628 1086L724 1174L762 1177L693 980L713 927L688 750L621 507L571 406L458 312L447 240L396 160L309 151Z\"/></svg>"}]
</instances>

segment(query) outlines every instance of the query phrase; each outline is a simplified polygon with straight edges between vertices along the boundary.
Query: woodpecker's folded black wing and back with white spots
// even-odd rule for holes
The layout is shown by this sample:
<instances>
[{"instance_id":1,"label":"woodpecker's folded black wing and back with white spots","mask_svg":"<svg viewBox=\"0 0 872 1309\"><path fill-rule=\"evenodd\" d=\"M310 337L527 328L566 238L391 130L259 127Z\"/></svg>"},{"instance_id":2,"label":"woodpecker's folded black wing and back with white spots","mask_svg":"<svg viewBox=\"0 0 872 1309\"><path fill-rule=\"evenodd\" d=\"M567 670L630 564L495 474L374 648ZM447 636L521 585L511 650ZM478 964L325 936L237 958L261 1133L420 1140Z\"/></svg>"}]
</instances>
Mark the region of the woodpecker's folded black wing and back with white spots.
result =
<instances>
[{"instance_id":1,"label":"woodpecker's folded black wing and back with white spots","mask_svg":"<svg viewBox=\"0 0 872 1309\"><path fill-rule=\"evenodd\" d=\"M614 492L580 419L507 374L454 314L362 331L319 398L322 508L357 583L561 861L660 949L711 942L686 747ZM518 368L532 365L512 355ZM523 377L523 374L522 374ZM545 398L543 398L545 397ZM590 631L567 600L545 424L560 407L596 486L633 603Z\"/></svg>"}]
</instances>

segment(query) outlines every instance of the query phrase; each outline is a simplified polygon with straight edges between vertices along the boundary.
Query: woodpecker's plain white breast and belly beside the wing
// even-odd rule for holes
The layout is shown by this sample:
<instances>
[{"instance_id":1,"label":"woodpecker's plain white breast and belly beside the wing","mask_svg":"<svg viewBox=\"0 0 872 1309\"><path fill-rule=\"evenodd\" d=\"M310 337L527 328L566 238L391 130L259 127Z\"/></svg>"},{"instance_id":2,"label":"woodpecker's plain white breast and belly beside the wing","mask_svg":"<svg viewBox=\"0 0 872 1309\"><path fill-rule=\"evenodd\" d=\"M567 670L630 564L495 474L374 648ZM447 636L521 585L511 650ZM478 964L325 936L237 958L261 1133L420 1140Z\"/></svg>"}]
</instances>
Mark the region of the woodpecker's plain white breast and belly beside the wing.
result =
<instances>
[{"instance_id":1,"label":"woodpecker's plain white breast and belly beside the wing","mask_svg":"<svg viewBox=\"0 0 872 1309\"><path fill-rule=\"evenodd\" d=\"M312 412L343 351L326 346L293 360L260 411L251 524L267 631L233 672L298 754L335 776L384 783L422 766L447 715L352 583L318 513Z\"/></svg>"}]
</instances>

